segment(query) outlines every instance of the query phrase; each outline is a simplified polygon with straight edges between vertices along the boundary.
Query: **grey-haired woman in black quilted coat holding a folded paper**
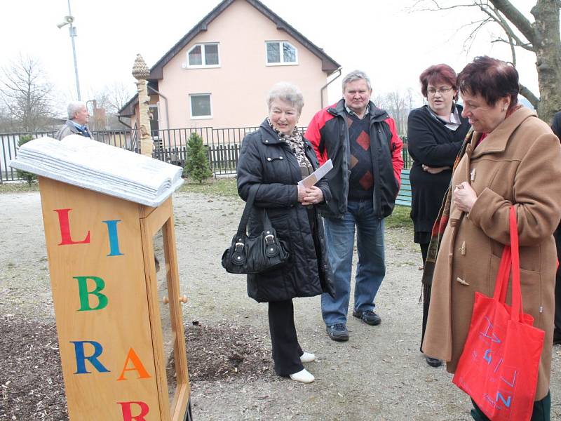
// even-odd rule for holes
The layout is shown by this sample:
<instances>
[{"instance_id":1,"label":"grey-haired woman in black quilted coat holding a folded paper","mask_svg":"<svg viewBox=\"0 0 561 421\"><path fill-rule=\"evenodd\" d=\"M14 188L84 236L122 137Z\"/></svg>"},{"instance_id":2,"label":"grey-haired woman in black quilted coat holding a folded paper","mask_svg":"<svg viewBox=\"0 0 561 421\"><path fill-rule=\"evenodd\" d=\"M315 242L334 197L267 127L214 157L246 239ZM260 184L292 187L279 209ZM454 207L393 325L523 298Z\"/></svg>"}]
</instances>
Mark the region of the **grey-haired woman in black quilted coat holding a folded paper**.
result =
<instances>
[{"instance_id":1,"label":"grey-haired woman in black quilted coat holding a folded paper","mask_svg":"<svg viewBox=\"0 0 561 421\"><path fill-rule=\"evenodd\" d=\"M238 193L248 199L257 186L250 234L262 232L262 210L269 215L278 239L285 241L290 261L278 269L248 275L248 295L269 302L269 329L278 375L309 383L314 377L302 363L315 356L299 345L292 298L333 293L323 238L323 223L316 206L331 199L325 179L311 188L298 182L318 167L311 144L296 123L302 112L302 93L290 83L273 86L267 98L269 117L259 130L245 136L238 161ZM254 187L255 188L255 187Z\"/></svg>"}]
</instances>

